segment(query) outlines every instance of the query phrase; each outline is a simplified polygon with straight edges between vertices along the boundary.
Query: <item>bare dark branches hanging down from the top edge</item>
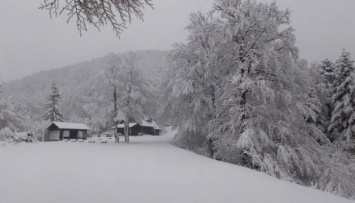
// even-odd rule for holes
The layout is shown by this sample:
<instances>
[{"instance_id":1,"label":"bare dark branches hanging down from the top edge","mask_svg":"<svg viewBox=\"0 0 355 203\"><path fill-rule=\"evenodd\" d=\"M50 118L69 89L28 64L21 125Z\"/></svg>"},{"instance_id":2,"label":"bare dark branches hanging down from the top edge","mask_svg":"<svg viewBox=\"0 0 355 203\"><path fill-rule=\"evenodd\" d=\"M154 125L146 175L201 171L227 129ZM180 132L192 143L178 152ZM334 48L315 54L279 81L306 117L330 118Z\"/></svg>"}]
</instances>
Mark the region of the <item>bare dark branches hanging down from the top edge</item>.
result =
<instances>
[{"instance_id":1,"label":"bare dark branches hanging down from the top edge","mask_svg":"<svg viewBox=\"0 0 355 203\"><path fill-rule=\"evenodd\" d=\"M39 7L48 10L50 17L66 14L67 22L76 19L80 35L87 31L87 24L100 27L111 24L113 31L119 37L131 23L132 16L143 20L142 9L146 5L152 8L152 0L43 0ZM117 17L117 18L116 18Z\"/></svg>"}]
</instances>

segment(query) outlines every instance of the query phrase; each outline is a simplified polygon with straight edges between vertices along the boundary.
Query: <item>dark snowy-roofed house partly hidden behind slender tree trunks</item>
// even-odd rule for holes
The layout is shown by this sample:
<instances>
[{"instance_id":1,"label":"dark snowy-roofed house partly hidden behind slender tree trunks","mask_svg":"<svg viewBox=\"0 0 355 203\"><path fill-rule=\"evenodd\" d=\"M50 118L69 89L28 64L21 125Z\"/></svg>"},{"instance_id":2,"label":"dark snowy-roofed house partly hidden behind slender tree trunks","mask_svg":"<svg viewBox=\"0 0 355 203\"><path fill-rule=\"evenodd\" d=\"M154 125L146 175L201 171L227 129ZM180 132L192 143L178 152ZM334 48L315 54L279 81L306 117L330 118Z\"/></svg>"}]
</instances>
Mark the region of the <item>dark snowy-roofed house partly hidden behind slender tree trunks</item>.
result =
<instances>
[{"instance_id":1,"label":"dark snowy-roofed house partly hidden behind slender tree trunks","mask_svg":"<svg viewBox=\"0 0 355 203\"><path fill-rule=\"evenodd\" d=\"M117 133L124 134L124 124L117 125ZM141 123L129 123L128 135L160 135L160 128L151 120L150 122L143 120Z\"/></svg>"}]
</instances>

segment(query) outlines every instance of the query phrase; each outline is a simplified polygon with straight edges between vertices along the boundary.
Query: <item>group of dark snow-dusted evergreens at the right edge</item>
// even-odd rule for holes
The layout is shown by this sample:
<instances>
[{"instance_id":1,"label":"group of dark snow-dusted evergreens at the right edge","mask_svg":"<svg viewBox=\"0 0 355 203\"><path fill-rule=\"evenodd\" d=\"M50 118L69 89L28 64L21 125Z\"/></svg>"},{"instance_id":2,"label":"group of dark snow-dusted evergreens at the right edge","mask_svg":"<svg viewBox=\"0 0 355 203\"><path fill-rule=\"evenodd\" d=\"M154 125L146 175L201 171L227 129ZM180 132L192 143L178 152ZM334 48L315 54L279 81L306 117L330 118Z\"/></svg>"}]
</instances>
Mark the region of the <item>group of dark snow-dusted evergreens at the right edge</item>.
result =
<instances>
[{"instance_id":1,"label":"group of dark snow-dusted evergreens at the right edge","mask_svg":"<svg viewBox=\"0 0 355 203\"><path fill-rule=\"evenodd\" d=\"M343 51L335 62L326 59L318 66L318 90L325 114L321 115L324 132L334 141L355 138L355 67L350 53Z\"/></svg>"}]
</instances>

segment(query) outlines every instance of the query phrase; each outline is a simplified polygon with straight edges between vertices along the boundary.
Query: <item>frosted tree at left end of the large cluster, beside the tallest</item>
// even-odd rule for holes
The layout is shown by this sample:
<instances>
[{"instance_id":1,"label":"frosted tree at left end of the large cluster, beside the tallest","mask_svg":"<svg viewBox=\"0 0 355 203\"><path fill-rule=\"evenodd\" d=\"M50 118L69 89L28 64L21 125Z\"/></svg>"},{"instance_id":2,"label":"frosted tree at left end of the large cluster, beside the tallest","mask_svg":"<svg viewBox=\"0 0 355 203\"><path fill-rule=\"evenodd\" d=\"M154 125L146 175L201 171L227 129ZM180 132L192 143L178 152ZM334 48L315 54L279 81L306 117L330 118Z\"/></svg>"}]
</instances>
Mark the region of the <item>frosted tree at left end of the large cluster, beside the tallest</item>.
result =
<instances>
[{"instance_id":1,"label":"frosted tree at left end of the large cluster, beside the tallest","mask_svg":"<svg viewBox=\"0 0 355 203\"><path fill-rule=\"evenodd\" d=\"M163 118L179 128L176 139L181 146L198 148L208 142L206 136L216 117L216 94L226 71L219 64L223 58L220 22L202 13L191 14L190 21L188 44L176 44L169 56Z\"/></svg>"}]
</instances>

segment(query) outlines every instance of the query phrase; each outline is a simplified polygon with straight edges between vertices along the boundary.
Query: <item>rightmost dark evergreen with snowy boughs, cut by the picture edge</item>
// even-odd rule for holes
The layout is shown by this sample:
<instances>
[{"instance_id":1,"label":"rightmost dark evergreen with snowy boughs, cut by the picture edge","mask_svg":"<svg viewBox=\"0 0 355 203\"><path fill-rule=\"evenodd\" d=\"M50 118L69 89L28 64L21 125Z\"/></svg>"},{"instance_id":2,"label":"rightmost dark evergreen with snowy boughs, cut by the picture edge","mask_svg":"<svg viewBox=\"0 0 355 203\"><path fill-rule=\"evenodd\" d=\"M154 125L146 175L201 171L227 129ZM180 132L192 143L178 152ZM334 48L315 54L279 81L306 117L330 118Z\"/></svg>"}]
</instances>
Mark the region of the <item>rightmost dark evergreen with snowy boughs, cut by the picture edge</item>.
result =
<instances>
[{"instance_id":1,"label":"rightmost dark evergreen with snowy boughs, cut by the picture edge","mask_svg":"<svg viewBox=\"0 0 355 203\"><path fill-rule=\"evenodd\" d=\"M350 53L343 51L335 64L332 111L330 126L331 141L347 140L355 136L355 72Z\"/></svg>"}]
</instances>

